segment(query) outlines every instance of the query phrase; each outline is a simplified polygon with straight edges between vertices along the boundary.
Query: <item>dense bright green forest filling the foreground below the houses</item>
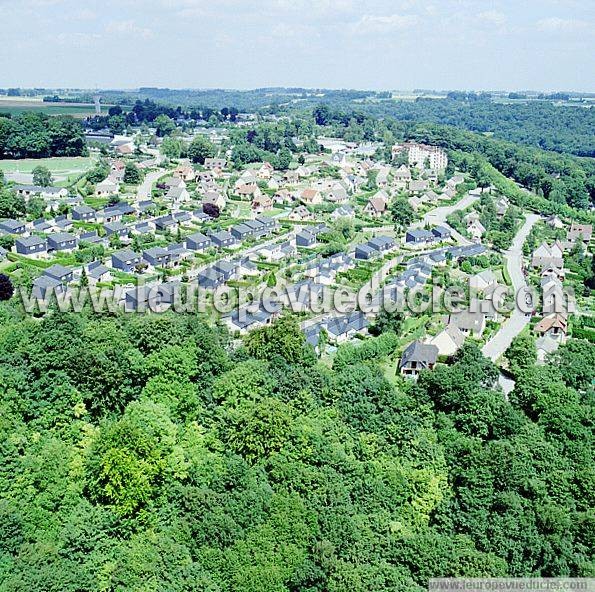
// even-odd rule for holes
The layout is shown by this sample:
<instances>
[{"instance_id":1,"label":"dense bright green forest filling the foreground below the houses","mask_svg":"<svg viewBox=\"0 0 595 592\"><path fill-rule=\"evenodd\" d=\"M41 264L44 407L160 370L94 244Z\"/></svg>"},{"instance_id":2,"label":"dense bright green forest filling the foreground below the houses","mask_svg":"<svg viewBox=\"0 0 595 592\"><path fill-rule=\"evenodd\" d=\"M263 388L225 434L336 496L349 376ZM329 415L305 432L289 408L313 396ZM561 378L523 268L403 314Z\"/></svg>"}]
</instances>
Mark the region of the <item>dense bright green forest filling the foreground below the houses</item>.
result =
<instances>
[{"instance_id":1,"label":"dense bright green forest filling the foreground below the houses","mask_svg":"<svg viewBox=\"0 0 595 592\"><path fill-rule=\"evenodd\" d=\"M595 575L595 346L473 345L406 383L390 329L0 309L4 591L423 590ZM384 332L382 332L384 331Z\"/></svg>"}]
</instances>

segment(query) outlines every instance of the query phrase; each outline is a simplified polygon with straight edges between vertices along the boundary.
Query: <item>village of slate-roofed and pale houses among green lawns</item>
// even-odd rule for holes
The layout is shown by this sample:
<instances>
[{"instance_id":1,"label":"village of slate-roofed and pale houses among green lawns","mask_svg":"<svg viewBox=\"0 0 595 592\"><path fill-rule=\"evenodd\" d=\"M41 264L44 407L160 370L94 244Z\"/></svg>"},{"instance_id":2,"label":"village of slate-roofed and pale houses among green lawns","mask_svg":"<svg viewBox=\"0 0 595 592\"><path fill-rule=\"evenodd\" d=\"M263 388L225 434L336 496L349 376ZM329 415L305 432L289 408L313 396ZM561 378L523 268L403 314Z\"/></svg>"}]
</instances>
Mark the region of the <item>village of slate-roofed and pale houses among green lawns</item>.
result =
<instances>
[{"instance_id":1,"label":"village of slate-roofed and pale houses among green lawns","mask_svg":"<svg viewBox=\"0 0 595 592\"><path fill-rule=\"evenodd\" d=\"M215 146L226 137L225 129L207 133ZM104 142L104 178L81 175L66 187L11 182L26 202L42 200L44 214L0 221L9 247L1 266L39 300L119 287L119 304L134 312L151 294L167 308L180 285L253 295L282 286L275 306L238 299L217 322L238 337L291 308L324 356L374 333L384 314L317 313L324 290L373 286L376 298L398 301L462 287L465 310L401 313L397 371L412 378L467 339L496 361L530 326L542 362L566 339L568 313L556 306L569 279L565 261L588 247L592 227L523 212L469 173L447 174L440 147L400 143L378 159L379 145L318 137L317 152L276 170L269 162L234 166L233 147L196 163L132 136L93 139ZM511 244L494 228L514 236ZM543 293L540 309L501 312L529 286Z\"/></svg>"}]
</instances>

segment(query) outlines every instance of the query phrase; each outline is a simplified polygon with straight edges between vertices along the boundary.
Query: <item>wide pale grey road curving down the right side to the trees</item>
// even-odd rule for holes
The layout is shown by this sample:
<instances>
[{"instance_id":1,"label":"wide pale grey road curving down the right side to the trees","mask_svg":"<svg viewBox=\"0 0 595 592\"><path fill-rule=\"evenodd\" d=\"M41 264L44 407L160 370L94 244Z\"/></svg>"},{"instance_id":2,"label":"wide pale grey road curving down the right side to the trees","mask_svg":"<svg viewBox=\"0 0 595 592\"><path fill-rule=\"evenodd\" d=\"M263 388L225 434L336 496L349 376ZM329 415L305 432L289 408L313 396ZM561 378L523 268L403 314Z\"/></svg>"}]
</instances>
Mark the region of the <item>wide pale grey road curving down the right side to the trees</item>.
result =
<instances>
[{"instance_id":1,"label":"wide pale grey road curving down the right side to the trees","mask_svg":"<svg viewBox=\"0 0 595 592\"><path fill-rule=\"evenodd\" d=\"M527 214L525 223L514 237L510 249L504 253L506 269L512 281L515 297L520 290L527 286L522 268L523 245L537 220L539 220L539 215ZM530 318L515 306L508 320L502 324L500 330L483 346L481 350L483 355L495 362L508 349L512 340L529 324ZM509 387L510 384L507 385L507 388Z\"/></svg>"}]
</instances>

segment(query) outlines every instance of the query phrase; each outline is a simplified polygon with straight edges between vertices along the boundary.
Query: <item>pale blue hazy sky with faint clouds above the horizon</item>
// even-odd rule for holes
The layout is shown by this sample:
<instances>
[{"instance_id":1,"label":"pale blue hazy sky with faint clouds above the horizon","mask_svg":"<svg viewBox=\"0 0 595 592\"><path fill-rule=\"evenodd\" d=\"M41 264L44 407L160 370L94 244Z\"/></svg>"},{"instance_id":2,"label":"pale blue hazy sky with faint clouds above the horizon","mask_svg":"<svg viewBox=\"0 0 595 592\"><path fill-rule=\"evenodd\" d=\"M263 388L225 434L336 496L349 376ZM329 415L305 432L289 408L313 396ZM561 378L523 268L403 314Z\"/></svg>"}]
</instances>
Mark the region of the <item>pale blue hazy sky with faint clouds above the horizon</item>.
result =
<instances>
[{"instance_id":1,"label":"pale blue hazy sky with faint clouds above the horizon","mask_svg":"<svg viewBox=\"0 0 595 592\"><path fill-rule=\"evenodd\" d=\"M595 91L595 0L0 0L0 87Z\"/></svg>"}]
</instances>

